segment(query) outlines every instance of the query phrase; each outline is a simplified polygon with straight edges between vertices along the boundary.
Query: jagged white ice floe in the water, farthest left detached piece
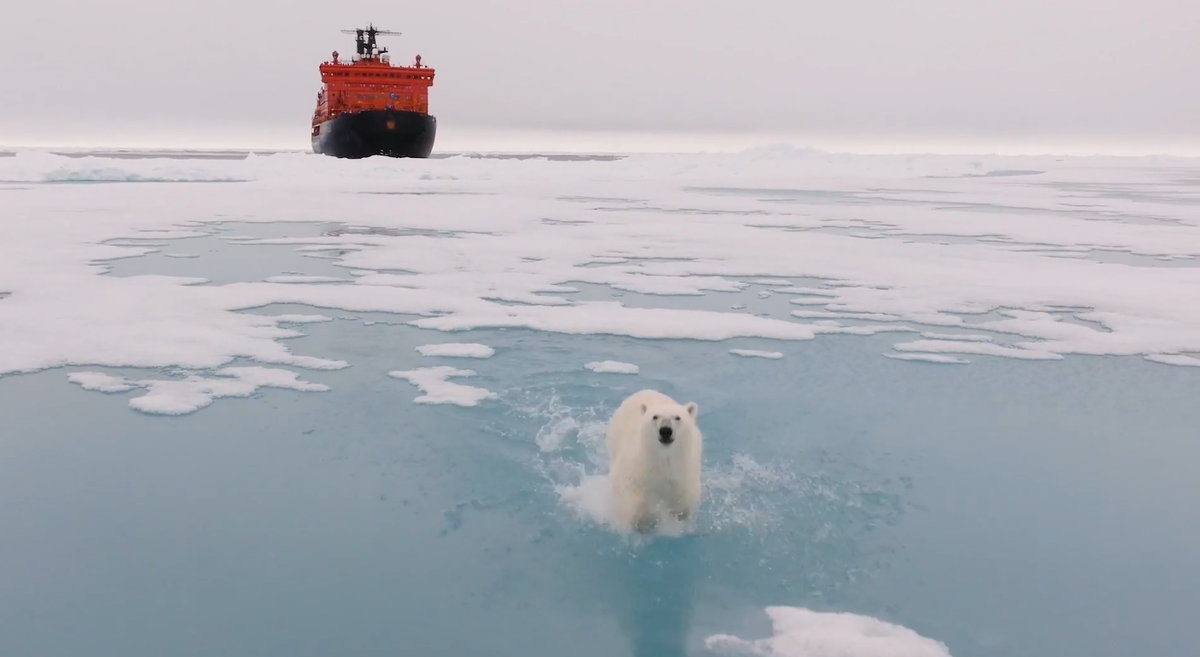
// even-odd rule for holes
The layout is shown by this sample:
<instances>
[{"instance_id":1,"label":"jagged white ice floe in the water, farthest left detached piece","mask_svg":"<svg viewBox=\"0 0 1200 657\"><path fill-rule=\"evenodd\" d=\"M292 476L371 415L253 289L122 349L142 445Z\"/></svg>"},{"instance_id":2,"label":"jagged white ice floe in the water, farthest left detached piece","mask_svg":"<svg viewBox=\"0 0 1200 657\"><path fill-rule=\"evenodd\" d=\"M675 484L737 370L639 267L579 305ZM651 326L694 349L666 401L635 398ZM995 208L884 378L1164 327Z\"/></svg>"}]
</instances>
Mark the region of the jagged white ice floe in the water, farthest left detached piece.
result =
<instances>
[{"instance_id":1,"label":"jagged white ice floe in the water, farthest left detached piece","mask_svg":"<svg viewBox=\"0 0 1200 657\"><path fill-rule=\"evenodd\" d=\"M299 374L266 367L226 367L216 378L196 374L184 379L145 379L130 381L101 372L74 372L67 380L84 390L126 392L145 388L149 392L130 399L130 408L150 415L187 415L196 412L221 397L250 397L260 387L289 388L301 392L326 392L329 386L301 381Z\"/></svg>"}]
</instances>

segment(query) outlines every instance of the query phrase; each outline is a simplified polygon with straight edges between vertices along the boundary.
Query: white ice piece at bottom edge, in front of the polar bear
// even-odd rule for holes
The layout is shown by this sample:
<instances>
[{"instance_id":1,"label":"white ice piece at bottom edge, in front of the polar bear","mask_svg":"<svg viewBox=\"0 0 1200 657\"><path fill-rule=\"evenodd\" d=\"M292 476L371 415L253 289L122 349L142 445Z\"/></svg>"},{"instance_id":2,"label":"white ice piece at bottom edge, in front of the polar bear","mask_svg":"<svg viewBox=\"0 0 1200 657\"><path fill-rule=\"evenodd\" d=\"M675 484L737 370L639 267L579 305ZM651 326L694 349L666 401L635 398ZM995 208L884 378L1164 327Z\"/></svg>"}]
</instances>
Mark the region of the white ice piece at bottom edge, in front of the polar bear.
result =
<instances>
[{"instance_id":1,"label":"white ice piece at bottom edge, in front of the polar bear","mask_svg":"<svg viewBox=\"0 0 1200 657\"><path fill-rule=\"evenodd\" d=\"M774 635L740 639L715 634L709 650L726 655L778 657L950 657L946 644L895 623L850 613L768 607Z\"/></svg>"}]
</instances>

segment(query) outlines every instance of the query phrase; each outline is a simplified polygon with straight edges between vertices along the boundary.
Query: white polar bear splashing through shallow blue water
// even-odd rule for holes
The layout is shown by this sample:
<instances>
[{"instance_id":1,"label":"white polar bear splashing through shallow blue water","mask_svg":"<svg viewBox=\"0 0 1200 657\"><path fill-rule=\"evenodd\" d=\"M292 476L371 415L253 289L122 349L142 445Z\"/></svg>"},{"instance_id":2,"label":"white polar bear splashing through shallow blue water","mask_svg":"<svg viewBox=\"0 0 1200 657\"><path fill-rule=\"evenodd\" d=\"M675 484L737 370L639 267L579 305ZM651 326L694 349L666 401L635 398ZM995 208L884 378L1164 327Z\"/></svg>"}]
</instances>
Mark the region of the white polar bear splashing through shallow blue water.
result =
<instances>
[{"instance_id":1,"label":"white polar bear splashing through shallow blue water","mask_svg":"<svg viewBox=\"0 0 1200 657\"><path fill-rule=\"evenodd\" d=\"M654 390L630 394L608 420L608 480L617 519L647 532L673 517L691 525L700 505L703 438L695 402Z\"/></svg>"}]
</instances>

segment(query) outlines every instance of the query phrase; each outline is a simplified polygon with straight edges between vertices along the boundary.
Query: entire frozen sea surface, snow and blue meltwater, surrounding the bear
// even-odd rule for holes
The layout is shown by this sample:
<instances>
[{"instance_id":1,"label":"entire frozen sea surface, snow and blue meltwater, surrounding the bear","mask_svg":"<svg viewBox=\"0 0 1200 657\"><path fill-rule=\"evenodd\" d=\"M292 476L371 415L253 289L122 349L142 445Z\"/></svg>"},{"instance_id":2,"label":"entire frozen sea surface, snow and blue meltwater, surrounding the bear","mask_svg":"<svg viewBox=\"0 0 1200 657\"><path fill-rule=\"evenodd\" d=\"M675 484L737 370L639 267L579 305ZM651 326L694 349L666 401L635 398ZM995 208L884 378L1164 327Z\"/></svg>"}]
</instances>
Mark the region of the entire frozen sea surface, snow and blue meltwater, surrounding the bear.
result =
<instances>
[{"instance_id":1,"label":"entire frozen sea surface, snow and blue meltwater, surrounding the bear","mask_svg":"<svg viewBox=\"0 0 1200 657\"><path fill-rule=\"evenodd\" d=\"M1194 159L20 151L0 635L1168 655L1198 364ZM692 535L607 522L642 387L700 404Z\"/></svg>"}]
</instances>

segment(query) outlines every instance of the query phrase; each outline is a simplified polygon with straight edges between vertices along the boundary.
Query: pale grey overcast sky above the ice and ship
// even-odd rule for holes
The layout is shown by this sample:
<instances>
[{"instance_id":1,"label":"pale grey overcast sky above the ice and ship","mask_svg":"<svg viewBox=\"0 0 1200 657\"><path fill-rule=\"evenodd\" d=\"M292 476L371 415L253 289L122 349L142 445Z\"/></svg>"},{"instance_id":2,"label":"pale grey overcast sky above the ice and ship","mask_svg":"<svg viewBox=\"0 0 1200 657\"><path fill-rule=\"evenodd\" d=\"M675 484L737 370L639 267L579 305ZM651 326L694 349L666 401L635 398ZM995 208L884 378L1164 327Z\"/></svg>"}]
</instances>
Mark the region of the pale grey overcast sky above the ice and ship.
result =
<instances>
[{"instance_id":1,"label":"pale grey overcast sky above the ice and ship","mask_svg":"<svg viewBox=\"0 0 1200 657\"><path fill-rule=\"evenodd\" d=\"M24 0L0 144L305 147L342 29L437 70L439 139L697 131L859 141L1200 141L1190 0ZM178 139L176 139L178 140ZM445 141L442 141L445 143ZM199 144L198 144L199 145Z\"/></svg>"}]
</instances>

